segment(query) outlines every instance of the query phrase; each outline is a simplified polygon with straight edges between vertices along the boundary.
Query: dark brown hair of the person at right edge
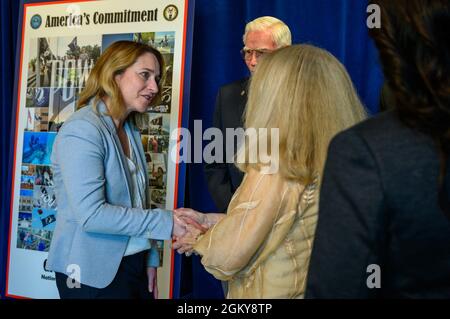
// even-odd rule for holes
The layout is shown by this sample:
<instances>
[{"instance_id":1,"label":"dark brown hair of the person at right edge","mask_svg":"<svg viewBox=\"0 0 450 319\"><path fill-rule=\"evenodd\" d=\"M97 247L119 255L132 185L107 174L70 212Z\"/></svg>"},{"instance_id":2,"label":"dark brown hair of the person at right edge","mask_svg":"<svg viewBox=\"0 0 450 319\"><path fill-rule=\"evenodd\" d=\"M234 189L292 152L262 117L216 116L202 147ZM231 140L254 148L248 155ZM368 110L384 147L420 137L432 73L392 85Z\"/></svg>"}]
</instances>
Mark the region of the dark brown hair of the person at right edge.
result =
<instances>
[{"instance_id":1,"label":"dark brown hair of the person at right edge","mask_svg":"<svg viewBox=\"0 0 450 319\"><path fill-rule=\"evenodd\" d=\"M450 149L449 0L372 0L381 28L369 33L379 50L395 108L407 126L433 138L445 175Z\"/></svg>"}]
</instances>

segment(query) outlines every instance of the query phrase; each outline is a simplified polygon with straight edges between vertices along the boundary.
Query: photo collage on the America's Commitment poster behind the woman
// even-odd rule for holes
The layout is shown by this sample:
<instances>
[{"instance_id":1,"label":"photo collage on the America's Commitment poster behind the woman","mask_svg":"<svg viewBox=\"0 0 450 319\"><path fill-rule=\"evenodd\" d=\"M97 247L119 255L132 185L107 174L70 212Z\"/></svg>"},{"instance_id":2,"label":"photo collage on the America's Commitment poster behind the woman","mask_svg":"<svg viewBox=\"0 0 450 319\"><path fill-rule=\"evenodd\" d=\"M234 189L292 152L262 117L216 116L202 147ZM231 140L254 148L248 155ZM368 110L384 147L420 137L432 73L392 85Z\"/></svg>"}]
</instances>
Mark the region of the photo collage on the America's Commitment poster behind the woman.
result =
<instances>
[{"instance_id":1,"label":"photo collage on the America's Commitment poster behind the woman","mask_svg":"<svg viewBox=\"0 0 450 319\"><path fill-rule=\"evenodd\" d=\"M154 46L166 65L161 103L149 108L148 128L141 130L151 204L153 208L166 208L175 32L33 39L28 62L17 248L48 251L57 214L50 166L53 141L76 111L79 93L105 50L104 45L120 40Z\"/></svg>"}]
</instances>

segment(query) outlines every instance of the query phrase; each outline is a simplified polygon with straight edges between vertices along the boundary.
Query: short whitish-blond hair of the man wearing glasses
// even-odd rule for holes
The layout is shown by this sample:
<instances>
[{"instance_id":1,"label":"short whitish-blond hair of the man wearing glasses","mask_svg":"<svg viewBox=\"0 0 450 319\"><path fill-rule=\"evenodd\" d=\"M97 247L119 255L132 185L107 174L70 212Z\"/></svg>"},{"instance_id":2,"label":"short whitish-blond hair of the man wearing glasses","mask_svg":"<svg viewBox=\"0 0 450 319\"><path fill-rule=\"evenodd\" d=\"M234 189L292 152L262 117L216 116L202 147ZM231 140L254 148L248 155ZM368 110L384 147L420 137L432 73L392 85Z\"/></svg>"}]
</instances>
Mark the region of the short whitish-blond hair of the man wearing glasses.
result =
<instances>
[{"instance_id":1,"label":"short whitish-blond hair of the man wearing glasses","mask_svg":"<svg viewBox=\"0 0 450 319\"><path fill-rule=\"evenodd\" d=\"M256 18L253 21L250 21L245 26L245 33L242 36L242 41L245 45L245 40L247 38L247 34L250 31L262 31L267 30L272 34L273 41L277 48L282 48L292 44L292 36L289 27L281 20L265 16Z\"/></svg>"}]
</instances>

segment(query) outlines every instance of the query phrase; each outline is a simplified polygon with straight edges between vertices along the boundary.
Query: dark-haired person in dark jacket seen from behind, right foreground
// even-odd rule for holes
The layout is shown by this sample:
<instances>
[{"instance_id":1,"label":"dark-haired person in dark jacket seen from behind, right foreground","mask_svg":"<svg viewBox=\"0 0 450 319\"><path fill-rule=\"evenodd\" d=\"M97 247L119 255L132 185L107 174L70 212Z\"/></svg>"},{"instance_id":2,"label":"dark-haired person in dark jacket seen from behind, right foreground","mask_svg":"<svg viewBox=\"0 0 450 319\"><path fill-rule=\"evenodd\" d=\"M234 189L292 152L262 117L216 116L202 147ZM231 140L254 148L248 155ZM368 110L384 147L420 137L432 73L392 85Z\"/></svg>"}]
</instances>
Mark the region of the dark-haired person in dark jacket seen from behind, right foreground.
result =
<instances>
[{"instance_id":1,"label":"dark-haired person in dark jacket seen from behind, right foreground","mask_svg":"<svg viewBox=\"0 0 450 319\"><path fill-rule=\"evenodd\" d=\"M306 298L449 298L450 2L372 3L395 107L330 143Z\"/></svg>"}]
</instances>

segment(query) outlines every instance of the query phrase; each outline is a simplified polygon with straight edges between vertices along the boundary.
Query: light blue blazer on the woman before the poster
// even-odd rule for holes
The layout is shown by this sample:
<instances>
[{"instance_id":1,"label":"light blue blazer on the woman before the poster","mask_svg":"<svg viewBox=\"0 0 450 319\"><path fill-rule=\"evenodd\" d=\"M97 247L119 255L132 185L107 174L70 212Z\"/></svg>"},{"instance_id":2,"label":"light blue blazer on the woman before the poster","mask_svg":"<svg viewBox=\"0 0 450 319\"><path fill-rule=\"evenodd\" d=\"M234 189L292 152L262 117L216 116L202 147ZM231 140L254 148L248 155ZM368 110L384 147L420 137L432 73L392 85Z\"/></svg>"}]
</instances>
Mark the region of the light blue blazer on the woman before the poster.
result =
<instances>
[{"instance_id":1,"label":"light blue blazer on the woman before the poster","mask_svg":"<svg viewBox=\"0 0 450 319\"><path fill-rule=\"evenodd\" d=\"M167 210L130 208L126 157L111 117L104 115L103 102L98 111L90 104L75 112L53 145L58 213L47 268L69 275L70 265L77 265L82 284L104 288L114 279L129 238L170 239L173 217ZM125 125L146 170L139 131L131 123Z\"/></svg>"}]
</instances>

